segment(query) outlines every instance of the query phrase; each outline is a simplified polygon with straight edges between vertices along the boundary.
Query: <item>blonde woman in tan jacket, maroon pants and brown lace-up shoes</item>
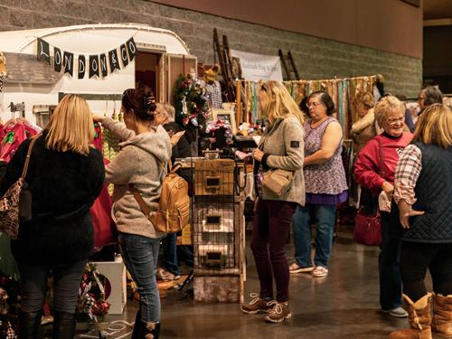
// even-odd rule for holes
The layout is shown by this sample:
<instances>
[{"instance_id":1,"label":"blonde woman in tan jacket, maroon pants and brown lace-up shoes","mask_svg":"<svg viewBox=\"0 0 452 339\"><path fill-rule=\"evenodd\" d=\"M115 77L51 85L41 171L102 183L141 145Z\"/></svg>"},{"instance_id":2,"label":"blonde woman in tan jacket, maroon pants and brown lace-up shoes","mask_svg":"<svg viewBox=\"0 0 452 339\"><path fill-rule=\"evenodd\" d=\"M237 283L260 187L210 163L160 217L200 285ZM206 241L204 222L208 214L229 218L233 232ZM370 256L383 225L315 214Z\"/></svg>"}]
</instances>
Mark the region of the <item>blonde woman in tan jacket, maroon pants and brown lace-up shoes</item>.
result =
<instances>
[{"instance_id":1,"label":"blonde woman in tan jacket, maroon pants and brown lace-up shoes","mask_svg":"<svg viewBox=\"0 0 452 339\"><path fill-rule=\"evenodd\" d=\"M254 159L264 174L273 169L283 169L293 173L293 180L281 195L262 187L251 240L260 293L251 294L253 299L249 304L241 305L241 310L246 314L267 312L267 322L280 323L292 316L288 307L289 272L285 245L292 214L297 205L305 204L304 117L287 89L277 81L267 81L261 86L259 107L268 118L268 127L254 151ZM273 279L276 282L276 300L273 299Z\"/></svg>"}]
</instances>

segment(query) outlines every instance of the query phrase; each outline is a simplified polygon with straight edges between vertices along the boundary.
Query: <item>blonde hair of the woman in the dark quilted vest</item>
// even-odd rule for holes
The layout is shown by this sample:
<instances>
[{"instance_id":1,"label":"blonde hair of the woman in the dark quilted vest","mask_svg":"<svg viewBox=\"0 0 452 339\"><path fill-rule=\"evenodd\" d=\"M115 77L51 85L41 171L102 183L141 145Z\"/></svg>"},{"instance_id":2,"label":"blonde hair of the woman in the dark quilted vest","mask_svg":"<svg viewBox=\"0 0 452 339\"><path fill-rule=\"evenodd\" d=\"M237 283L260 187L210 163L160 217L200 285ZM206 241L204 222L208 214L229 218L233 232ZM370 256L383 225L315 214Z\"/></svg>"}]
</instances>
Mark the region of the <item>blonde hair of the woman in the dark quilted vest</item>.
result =
<instances>
[{"instance_id":1,"label":"blonde hair of the woman in the dark quilted vest","mask_svg":"<svg viewBox=\"0 0 452 339\"><path fill-rule=\"evenodd\" d=\"M413 141L448 148L452 146L451 127L452 110L444 104L430 105L418 119Z\"/></svg>"}]
</instances>

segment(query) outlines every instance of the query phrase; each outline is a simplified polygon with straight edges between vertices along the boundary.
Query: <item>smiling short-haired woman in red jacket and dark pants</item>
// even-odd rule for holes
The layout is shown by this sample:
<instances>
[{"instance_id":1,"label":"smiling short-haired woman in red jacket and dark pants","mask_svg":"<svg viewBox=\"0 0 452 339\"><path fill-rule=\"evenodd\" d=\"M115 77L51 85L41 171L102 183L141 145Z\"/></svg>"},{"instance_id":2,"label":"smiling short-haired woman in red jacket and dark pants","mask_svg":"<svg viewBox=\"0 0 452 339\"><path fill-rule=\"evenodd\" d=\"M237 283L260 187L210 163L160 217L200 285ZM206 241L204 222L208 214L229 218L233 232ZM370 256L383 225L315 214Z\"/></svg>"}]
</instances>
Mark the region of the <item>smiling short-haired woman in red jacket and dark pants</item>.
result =
<instances>
[{"instance_id":1,"label":"smiling short-haired woman in red jacket and dark pants","mask_svg":"<svg viewBox=\"0 0 452 339\"><path fill-rule=\"evenodd\" d=\"M394 172L403 148L410 144L412 135L404 132L405 108L399 99L388 96L374 108L375 118L384 132L363 147L354 165L356 181L372 192L382 195L382 201L391 202L394 191ZM380 155L382 154L382 161ZM383 168L380 168L382 164ZM387 206L385 206L387 207ZM379 206L381 210L383 206ZM380 306L381 311L394 317L406 317L401 307L400 240L389 234L390 213L381 213Z\"/></svg>"}]
</instances>

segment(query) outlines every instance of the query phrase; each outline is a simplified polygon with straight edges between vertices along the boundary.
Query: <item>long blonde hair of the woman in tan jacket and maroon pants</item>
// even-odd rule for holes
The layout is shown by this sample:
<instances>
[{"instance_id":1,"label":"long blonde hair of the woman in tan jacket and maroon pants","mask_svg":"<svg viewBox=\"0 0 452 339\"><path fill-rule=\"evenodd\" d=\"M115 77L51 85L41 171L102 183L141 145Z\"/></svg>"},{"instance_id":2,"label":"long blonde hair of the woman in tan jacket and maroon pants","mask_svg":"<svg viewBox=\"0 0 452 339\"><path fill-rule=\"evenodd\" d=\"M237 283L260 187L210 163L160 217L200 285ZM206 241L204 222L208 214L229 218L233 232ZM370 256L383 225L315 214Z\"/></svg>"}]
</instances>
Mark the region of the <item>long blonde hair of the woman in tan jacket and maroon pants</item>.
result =
<instances>
[{"instance_id":1,"label":"long blonde hair of the woman in tan jacket and maroon pants","mask_svg":"<svg viewBox=\"0 0 452 339\"><path fill-rule=\"evenodd\" d=\"M269 80L260 87L259 106L262 113L267 116L270 127L278 118L286 118L289 114L295 116L301 125L305 123L305 116L297 102L278 81Z\"/></svg>"}]
</instances>

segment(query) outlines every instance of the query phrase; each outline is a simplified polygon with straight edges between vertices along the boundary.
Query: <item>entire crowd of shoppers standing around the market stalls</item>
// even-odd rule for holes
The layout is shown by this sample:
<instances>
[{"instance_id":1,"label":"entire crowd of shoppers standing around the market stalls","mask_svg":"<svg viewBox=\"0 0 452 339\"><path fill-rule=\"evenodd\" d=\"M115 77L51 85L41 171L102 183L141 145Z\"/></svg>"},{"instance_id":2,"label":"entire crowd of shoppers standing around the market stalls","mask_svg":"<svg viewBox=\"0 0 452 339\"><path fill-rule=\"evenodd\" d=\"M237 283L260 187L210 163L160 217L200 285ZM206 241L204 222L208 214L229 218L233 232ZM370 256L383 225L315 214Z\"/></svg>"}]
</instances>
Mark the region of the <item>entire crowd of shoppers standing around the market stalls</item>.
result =
<instances>
[{"instance_id":1,"label":"entire crowd of shoppers standing around the market stalls","mask_svg":"<svg viewBox=\"0 0 452 339\"><path fill-rule=\"evenodd\" d=\"M381 311L410 319L410 329L392 333L391 339L431 338L432 333L452 337L452 111L442 102L439 89L420 91L413 137L407 130L407 107L396 97L384 95L375 104L372 93L359 92L355 100L353 174L372 202L378 202L367 211L381 217ZM156 277L174 280L181 274L176 234L155 229L131 187L155 211L164 179L162 164L191 156L190 139L174 122L174 108L156 103L145 88L127 89L121 103L124 123L93 116L80 96L65 96L49 125L24 141L5 170L0 195L20 177L29 146L33 147L25 177L33 193L33 216L21 221L18 238L12 241L23 288L21 338L38 335L51 271L53 336L74 336L80 276L93 250L89 208L103 184L115 186L112 216L119 249L139 294L132 338L159 336ZM325 91L311 93L298 106L281 83L270 80L259 89L259 108L268 126L253 152L258 199L250 248L260 290L240 308L245 314L266 313L267 322L281 323L292 316L290 274L328 275L336 205L348 198L341 157L344 133L334 118L333 99ZM93 121L122 141L107 166L91 146ZM282 193L262 184L262 178L275 170L290 173ZM191 173L179 174L193 186ZM285 246L291 225L295 262L289 265ZM157 269L161 243L164 258ZM191 249L185 250L188 258L193 256ZM424 283L427 270L432 293Z\"/></svg>"}]
</instances>

